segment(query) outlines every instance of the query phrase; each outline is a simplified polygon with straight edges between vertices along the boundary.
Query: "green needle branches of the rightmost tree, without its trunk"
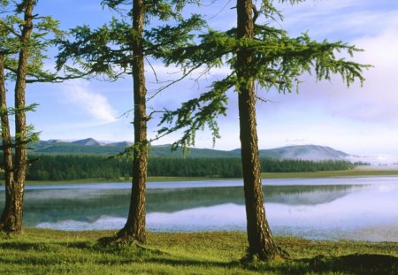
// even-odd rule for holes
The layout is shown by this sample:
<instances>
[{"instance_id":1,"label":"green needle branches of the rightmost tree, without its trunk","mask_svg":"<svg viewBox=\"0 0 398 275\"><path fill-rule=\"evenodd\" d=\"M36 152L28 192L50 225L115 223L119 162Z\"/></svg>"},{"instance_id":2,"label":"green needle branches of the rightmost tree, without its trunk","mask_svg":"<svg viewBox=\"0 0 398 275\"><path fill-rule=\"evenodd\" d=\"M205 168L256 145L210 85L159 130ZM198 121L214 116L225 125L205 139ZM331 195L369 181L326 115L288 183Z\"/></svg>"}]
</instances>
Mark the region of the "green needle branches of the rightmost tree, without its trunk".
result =
<instances>
[{"instance_id":1,"label":"green needle branches of the rightmost tree, without its trunk","mask_svg":"<svg viewBox=\"0 0 398 275\"><path fill-rule=\"evenodd\" d=\"M185 72L198 68L210 71L226 66L229 73L224 79L212 82L210 89L203 94L182 103L177 110L168 110L162 117L158 134L171 134L183 131L175 141L174 148L195 145L195 133L204 126L210 129L214 141L219 138L217 118L226 116L228 96L226 92L239 90L244 82L237 77L237 53L247 50L251 53L251 77L256 81L257 100L263 100L261 93L276 91L292 93L299 91L301 77L313 75L316 80L331 80L333 74L341 75L348 87L356 80L364 82L363 71L370 65L358 64L352 60L355 52L362 51L346 42L318 42L307 33L290 37L278 24L283 16L273 5L274 1L262 1L255 10L256 19L261 16L265 24L254 24L254 38L238 38L236 28L227 31L209 29L205 34L197 34L195 40L182 47L168 48L162 58L165 65L178 64ZM290 4L302 1L279 1Z\"/></svg>"}]
</instances>

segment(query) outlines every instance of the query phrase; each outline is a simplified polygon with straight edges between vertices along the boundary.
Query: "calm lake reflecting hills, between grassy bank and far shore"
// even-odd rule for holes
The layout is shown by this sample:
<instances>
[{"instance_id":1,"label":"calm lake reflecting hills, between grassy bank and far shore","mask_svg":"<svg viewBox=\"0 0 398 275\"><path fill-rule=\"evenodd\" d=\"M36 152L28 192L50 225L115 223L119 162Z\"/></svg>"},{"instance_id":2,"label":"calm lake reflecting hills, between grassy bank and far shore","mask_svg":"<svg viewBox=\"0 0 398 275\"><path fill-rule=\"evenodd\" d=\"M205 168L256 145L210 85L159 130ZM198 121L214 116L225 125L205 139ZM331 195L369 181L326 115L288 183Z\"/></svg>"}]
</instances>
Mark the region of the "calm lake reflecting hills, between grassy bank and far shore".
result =
<instances>
[{"instance_id":1,"label":"calm lake reflecting hills, between grassy bank and far shore","mask_svg":"<svg viewBox=\"0 0 398 275\"><path fill-rule=\"evenodd\" d=\"M130 183L27 186L24 225L119 229ZM398 177L264 180L272 233L314 240L398 241ZM4 205L4 187L0 189ZM149 182L154 232L245 231L242 180Z\"/></svg>"}]
</instances>

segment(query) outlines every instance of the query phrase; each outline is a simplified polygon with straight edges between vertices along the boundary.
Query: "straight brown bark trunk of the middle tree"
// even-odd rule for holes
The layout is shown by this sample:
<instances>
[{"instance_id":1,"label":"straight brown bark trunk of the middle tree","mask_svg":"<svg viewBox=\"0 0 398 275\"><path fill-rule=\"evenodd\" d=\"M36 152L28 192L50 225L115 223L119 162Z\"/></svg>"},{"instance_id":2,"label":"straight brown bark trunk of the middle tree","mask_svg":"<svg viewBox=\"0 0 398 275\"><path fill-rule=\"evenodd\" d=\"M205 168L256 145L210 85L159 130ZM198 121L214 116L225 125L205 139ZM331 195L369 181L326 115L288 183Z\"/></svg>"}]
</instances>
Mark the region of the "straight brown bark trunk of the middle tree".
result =
<instances>
[{"instance_id":1,"label":"straight brown bark trunk of the middle tree","mask_svg":"<svg viewBox=\"0 0 398 275\"><path fill-rule=\"evenodd\" d=\"M137 37L142 37L144 19L144 1L134 0L133 28ZM119 231L119 238L129 241L146 241L145 235L145 190L147 181L147 115L146 88L144 74L144 53L142 39L134 40L133 45L133 80L134 80L134 161L133 187L130 210L125 227Z\"/></svg>"}]
</instances>

